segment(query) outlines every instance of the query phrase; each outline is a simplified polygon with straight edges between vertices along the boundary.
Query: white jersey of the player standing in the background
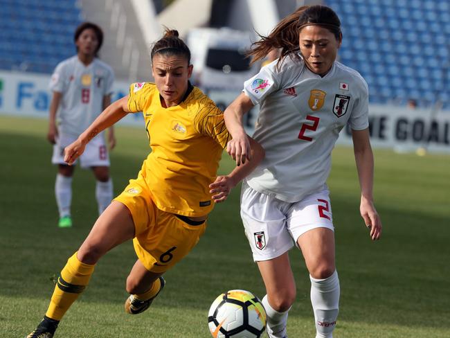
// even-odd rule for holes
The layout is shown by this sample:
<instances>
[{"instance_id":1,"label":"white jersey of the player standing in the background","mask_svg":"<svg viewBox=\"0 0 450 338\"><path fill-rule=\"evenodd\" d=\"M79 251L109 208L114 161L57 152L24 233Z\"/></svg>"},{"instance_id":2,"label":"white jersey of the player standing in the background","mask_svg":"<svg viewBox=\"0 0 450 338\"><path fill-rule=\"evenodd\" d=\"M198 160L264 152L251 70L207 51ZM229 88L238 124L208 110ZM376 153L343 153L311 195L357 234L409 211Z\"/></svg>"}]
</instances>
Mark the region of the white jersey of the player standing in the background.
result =
<instances>
[{"instance_id":1,"label":"white jersey of the player standing in the background","mask_svg":"<svg viewBox=\"0 0 450 338\"><path fill-rule=\"evenodd\" d=\"M58 130L78 136L103 110L103 97L112 93L114 73L110 66L94 58L85 66L78 55L56 66L50 89L62 93L57 111Z\"/></svg>"}]
</instances>

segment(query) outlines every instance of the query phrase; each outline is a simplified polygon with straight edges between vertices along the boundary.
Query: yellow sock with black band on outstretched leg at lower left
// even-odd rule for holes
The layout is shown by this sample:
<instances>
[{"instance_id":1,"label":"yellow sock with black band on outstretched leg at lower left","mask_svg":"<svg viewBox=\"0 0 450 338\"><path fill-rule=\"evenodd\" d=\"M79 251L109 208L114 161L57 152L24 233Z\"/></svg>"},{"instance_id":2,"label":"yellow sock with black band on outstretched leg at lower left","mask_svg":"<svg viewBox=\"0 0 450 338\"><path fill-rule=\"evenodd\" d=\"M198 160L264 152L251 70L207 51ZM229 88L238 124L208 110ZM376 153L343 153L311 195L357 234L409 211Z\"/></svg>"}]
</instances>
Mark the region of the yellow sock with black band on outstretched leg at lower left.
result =
<instances>
[{"instance_id":1,"label":"yellow sock with black band on outstretched leg at lower left","mask_svg":"<svg viewBox=\"0 0 450 338\"><path fill-rule=\"evenodd\" d=\"M62 269L51 297L46 317L60 321L89 283L95 265L84 264L75 252Z\"/></svg>"}]
</instances>

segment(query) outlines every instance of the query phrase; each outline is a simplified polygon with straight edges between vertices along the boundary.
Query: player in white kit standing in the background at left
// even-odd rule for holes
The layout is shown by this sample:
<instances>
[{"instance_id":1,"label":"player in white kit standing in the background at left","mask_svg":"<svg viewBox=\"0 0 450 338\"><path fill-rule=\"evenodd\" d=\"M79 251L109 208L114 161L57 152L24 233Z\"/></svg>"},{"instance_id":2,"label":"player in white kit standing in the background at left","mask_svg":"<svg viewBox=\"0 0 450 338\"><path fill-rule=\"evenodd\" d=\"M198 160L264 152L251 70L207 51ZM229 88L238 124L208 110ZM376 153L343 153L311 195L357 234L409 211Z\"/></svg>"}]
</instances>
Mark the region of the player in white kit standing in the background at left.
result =
<instances>
[{"instance_id":1,"label":"player in white kit standing in the background at left","mask_svg":"<svg viewBox=\"0 0 450 338\"><path fill-rule=\"evenodd\" d=\"M74 40L77 55L57 65L50 83L53 98L47 139L54 144L52 163L58 165L55 195L60 212L60 227L72 226L74 167L64 162L64 148L75 141L108 107L114 82L111 67L97 58L103 41L100 27L84 22L75 30ZM109 128L108 143L110 150L116 145L113 127ZM109 154L103 134L89 143L80 162L82 168L91 168L97 179L98 213L102 213L111 202L113 193L109 177Z\"/></svg>"}]
</instances>

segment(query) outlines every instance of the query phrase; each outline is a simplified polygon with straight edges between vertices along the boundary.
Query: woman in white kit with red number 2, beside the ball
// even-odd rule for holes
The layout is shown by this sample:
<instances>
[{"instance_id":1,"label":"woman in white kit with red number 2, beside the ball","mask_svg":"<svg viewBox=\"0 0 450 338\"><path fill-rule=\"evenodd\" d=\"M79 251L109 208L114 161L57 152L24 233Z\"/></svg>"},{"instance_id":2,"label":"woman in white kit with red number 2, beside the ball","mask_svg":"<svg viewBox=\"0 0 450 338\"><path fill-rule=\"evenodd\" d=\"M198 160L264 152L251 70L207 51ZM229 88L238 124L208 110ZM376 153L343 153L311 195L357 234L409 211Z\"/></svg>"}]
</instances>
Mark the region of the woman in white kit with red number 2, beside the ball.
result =
<instances>
[{"instance_id":1,"label":"woman in white kit with red number 2, beside the ball","mask_svg":"<svg viewBox=\"0 0 450 338\"><path fill-rule=\"evenodd\" d=\"M267 290L263 303L269 337L287 337L287 312L296 298L287 251L294 244L310 274L316 337L332 337L340 287L326 179L334 143L347 123L361 186L361 216L372 240L381 235L372 197L368 88L357 71L336 62L340 26L336 13L325 6L298 8L282 19L251 51L255 61L280 48L280 59L246 81L225 112L233 137L227 151L241 163L249 154L242 115L260 104L253 138L266 157L242 186L241 215Z\"/></svg>"}]
</instances>

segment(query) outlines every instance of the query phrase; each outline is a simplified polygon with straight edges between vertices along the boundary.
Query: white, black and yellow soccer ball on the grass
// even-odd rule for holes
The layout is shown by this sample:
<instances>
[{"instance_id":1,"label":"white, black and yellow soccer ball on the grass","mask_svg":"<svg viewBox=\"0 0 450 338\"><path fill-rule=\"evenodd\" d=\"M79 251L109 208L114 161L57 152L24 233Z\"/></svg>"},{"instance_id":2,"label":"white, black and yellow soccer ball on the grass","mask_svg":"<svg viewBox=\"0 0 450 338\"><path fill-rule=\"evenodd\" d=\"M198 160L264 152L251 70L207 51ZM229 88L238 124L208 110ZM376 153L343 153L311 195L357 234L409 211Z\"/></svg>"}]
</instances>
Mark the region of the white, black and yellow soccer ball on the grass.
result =
<instances>
[{"instance_id":1,"label":"white, black and yellow soccer ball on the grass","mask_svg":"<svg viewBox=\"0 0 450 338\"><path fill-rule=\"evenodd\" d=\"M266 311L258 297L245 290L218 296L208 312L214 338L259 338L266 328Z\"/></svg>"}]
</instances>

